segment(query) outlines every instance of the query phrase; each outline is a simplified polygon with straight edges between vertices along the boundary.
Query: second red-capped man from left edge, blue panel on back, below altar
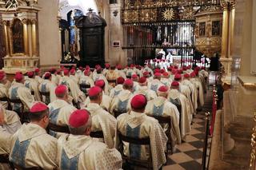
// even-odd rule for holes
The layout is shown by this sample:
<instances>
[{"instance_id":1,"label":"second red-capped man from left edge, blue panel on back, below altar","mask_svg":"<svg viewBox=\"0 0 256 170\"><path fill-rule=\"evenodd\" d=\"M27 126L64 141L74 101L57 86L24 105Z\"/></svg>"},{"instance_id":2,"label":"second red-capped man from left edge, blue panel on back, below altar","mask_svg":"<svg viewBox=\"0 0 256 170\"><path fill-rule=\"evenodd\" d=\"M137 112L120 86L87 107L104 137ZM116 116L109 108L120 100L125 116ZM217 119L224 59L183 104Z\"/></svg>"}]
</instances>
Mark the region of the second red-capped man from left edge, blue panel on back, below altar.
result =
<instances>
[{"instance_id":1,"label":"second red-capped man from left edge, blue panel on back, below altar","mask_svg":"<svg viewBox=\"0 0 256 170\"><path fill-rule=\"evenodd\" d=\"M29 111L30 107L34 102L34 97L31 95L30 89L27 89L24 85L25 80L22 73L16 73L14 79L15 81L13 82L13 85L10 86L8 95L12 100L21 100L22 104L24 105L24 111ZM12 105L12 108L15 112L18 113L22 111L21 104L15 103L14 105Z\"/></svg>"}]
</instances>

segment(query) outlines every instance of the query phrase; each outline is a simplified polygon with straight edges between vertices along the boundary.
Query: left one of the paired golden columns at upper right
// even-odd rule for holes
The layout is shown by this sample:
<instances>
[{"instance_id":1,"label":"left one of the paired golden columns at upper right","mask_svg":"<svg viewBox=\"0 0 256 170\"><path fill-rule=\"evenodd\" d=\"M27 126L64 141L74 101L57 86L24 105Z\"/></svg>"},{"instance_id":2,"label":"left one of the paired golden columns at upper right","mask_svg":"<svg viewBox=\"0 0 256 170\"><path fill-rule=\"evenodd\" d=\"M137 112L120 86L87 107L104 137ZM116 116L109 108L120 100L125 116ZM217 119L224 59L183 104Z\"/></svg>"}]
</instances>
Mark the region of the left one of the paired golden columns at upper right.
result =
<instances>
[{"instance_id":1,"label":"left one of the paired golden columns at upper right","mask_svg":"<svg viewBox=\"0 0 256 170\"><path fill-rule=\"evenodd\" d=\"M228 56L228 40L229 40L229 6L228 4L223 5L223 20L222 20L222 56Z\"/></svg>"}]
</instances>

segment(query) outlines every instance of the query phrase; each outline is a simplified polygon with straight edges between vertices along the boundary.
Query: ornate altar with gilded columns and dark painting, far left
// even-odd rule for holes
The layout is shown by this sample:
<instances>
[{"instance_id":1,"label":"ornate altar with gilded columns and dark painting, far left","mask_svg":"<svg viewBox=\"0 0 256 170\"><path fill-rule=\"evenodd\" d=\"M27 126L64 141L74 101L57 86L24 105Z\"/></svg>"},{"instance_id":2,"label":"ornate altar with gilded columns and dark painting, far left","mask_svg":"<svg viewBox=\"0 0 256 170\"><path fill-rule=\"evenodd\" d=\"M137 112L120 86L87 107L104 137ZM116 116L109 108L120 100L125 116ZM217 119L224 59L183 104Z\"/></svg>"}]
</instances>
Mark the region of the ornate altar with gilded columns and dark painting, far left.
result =
<instances>
[{"instance_id":1,"label":"ornate altar with gilded columns and dark painting, far left","mask_svg":"<svg viewBox=\"0 0 256 170\"><path fill-rule=\"evenodd\" d=\"M6 55L6 73L38 67L38 7L37 0L0 0Z\"/></svg>"}]
</instances>

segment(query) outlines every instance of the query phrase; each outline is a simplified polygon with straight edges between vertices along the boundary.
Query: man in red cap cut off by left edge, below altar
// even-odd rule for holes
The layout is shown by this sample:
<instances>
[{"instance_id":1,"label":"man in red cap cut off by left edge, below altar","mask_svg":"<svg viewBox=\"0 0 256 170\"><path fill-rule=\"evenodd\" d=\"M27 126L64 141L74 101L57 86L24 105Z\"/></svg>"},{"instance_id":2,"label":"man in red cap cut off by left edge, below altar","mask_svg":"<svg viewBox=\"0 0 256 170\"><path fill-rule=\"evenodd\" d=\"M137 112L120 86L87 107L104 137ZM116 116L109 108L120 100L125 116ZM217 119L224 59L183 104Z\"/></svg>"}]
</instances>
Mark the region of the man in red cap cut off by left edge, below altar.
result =
<instances>
[{"instance_id":1,"label":"man in red cap cut off by left edge, below altar","mask_svg":"<svg viewBox=\"0 0 256 170\"><path fill-rule=\"evenodd\" d=\"M0 97L8 97L8 89L6 87L7 79L6 79L6 73L0 72ZM7 101L0 101L0 104L4 108L8 108L8 102Z\"/></svg>"}]
</instances>

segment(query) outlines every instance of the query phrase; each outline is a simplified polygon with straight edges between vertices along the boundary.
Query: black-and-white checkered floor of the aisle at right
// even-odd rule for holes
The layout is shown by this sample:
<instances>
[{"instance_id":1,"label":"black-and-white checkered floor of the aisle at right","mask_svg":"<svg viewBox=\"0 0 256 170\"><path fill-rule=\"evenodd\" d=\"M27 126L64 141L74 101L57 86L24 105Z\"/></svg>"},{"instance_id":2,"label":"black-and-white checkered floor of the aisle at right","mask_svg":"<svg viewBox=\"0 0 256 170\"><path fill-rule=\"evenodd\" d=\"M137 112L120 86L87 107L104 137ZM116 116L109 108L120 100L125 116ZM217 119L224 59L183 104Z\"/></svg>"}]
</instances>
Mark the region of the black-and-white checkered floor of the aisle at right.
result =
<instances>
[{"instance_id":1,"label":"black-and-white checkered floor of the aisle at right","mask_svg":"<svg viewBox=\"0 0 256 170\"><path fill-rule=\"evenodd\" d=\"M202 149L204 139L205 113L211 111L212 107L212 88L208 89L205 95L205 105L202 111L198 112L193 118L192 130L186 141L177 146L176 152L168 156L164 170L200 170L202 164ZM211 139L208 140L210 147ZM209 155L210 149L207 149ZM208 159L207 159L208 161Z\"/></svg>"}]
</instances>

